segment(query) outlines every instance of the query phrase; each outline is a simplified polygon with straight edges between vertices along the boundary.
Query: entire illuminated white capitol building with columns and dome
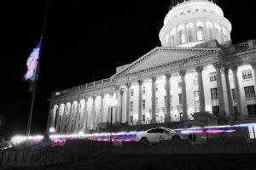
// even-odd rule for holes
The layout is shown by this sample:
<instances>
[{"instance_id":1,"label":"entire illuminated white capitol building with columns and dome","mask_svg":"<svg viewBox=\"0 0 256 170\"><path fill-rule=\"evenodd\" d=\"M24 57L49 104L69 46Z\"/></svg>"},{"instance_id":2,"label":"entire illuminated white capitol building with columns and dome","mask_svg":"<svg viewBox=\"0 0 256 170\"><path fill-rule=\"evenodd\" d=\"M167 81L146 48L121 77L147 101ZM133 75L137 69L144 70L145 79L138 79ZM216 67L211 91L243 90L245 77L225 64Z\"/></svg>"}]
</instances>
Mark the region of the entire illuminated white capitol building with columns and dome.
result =
<instances>
[{"instance_id":1,"label":"entire illuminated white capitol building with columns and dome","mask_svg":"<svg viewBox=\"0 0 256 170\"><path fill-rule=\"evenodd\" d=\"M256 41L234 45L231 31L214 0L172 0L162 47L112 77L52 93L47 129L98 129L111 115L122 126L255 121Z\"/></svg>"}]
</instances>

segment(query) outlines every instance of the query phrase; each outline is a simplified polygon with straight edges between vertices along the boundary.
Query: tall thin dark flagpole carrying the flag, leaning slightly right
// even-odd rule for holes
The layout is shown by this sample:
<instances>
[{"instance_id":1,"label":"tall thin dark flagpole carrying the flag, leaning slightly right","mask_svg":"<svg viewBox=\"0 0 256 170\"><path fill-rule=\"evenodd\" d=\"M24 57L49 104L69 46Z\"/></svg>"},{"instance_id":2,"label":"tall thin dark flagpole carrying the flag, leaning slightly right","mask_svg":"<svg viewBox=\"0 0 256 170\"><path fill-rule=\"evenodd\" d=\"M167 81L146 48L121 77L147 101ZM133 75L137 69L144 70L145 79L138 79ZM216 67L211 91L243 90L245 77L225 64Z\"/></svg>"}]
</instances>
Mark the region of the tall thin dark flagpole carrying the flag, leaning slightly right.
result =
<instances>
[{"instance_id":1,"label":"tall thin dark flagpole carrying the flag, leaning slightly right","mask_svg":"<svg viewBox=\"0 0 256 170\"><path fill-rule=\"evenodd\" d=\"M32 103L31 103L31 107L30 107L28 123L27 123L27 128L26 128L26 137L30 136L30 131L31 131L32 115L33 115L33 110L34 110L36 94L37 94L40 58L41 58L43 43L44 43L44 32L45 32L45 26L46 26L46 21L47 21L48 7L49 7L49 0L47 0L47 3L46 3L46 9L45 9L45 14L44 14L44 25L43 25L42 34L41 34L41 37L40 37L38 65L37 65L37 69L36 69L36 72L35 72L35 80L33 82L34 85L33 85L33 88L32 88Z\"/></svg>"}]
</instances>

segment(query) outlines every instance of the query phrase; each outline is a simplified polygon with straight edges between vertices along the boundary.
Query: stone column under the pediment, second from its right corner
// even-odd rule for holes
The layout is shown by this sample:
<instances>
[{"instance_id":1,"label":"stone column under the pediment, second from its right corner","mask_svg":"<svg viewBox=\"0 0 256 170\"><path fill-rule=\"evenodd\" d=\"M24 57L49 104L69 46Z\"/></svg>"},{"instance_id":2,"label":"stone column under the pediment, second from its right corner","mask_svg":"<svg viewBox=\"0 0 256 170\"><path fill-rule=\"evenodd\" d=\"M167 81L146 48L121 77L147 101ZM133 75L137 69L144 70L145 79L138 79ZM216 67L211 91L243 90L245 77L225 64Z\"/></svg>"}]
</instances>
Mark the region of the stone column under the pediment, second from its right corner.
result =
<instances>
[{"instance_id":1,"label":"stone column under the pediment, second from its right corner","mask_svg":"<svg viewBox=\"0 0 256 170\"><path fill-rule=\"evenodd\" d=\"M206 103L205 103L205 92L204 92L204 83L202 78L203 66L195 67L195 71L198 75L198 91L199 91L199 103L200 103L200 112L206 112Z\"/></svg>"}]
</instances>

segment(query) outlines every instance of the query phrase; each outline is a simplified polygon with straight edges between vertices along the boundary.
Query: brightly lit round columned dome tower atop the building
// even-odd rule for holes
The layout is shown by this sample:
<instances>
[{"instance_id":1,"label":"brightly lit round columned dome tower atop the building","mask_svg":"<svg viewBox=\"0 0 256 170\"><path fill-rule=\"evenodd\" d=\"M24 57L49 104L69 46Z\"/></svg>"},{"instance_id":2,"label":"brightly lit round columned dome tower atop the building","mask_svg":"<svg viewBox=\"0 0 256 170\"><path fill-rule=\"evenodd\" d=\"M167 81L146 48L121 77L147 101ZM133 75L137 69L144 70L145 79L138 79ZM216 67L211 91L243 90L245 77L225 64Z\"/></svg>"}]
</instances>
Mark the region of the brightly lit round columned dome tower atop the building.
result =
<instances>
[{"instance_id":1,"label":"brightly lit round columned dome tower atop the building","mask_svg":"<svg viewBox=\"0 0 256 170\"><path fill-rule=\"evenodd\" d=\"M228 42L231 30L215 0L172 0L160 42L163 47L194 47L214 39Z\"/></svg>"}]
</instances>

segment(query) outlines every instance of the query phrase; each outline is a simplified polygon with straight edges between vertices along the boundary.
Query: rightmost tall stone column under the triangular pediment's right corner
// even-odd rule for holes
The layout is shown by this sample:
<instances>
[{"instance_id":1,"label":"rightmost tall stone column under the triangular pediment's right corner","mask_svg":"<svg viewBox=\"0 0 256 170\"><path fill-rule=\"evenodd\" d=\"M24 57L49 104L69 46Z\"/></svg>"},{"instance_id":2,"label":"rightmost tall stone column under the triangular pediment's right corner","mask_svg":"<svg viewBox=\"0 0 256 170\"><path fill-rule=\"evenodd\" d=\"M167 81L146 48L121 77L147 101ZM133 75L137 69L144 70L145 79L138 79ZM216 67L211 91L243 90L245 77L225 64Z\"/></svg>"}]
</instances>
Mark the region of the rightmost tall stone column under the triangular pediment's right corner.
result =
<instances>
[{"instance_id":1,"label":"rightmost tall stone column under the triangular pediment's right corner","mask_svg":"<svg viewBox=\"0 0 256 170\"><path fill-rule=\"evenodd\" d=\"M220 63L214 63L214 68L216 69L217 75L217 86L218 86L218 107L219 107L219 115L218 115L218 122L219 124L224 124L227 122L227 117L224 108L224 91L223 91L223 84L222 84L222 77L221 77L221 68L222 65Z\"/></svg>"}]
</instances>

